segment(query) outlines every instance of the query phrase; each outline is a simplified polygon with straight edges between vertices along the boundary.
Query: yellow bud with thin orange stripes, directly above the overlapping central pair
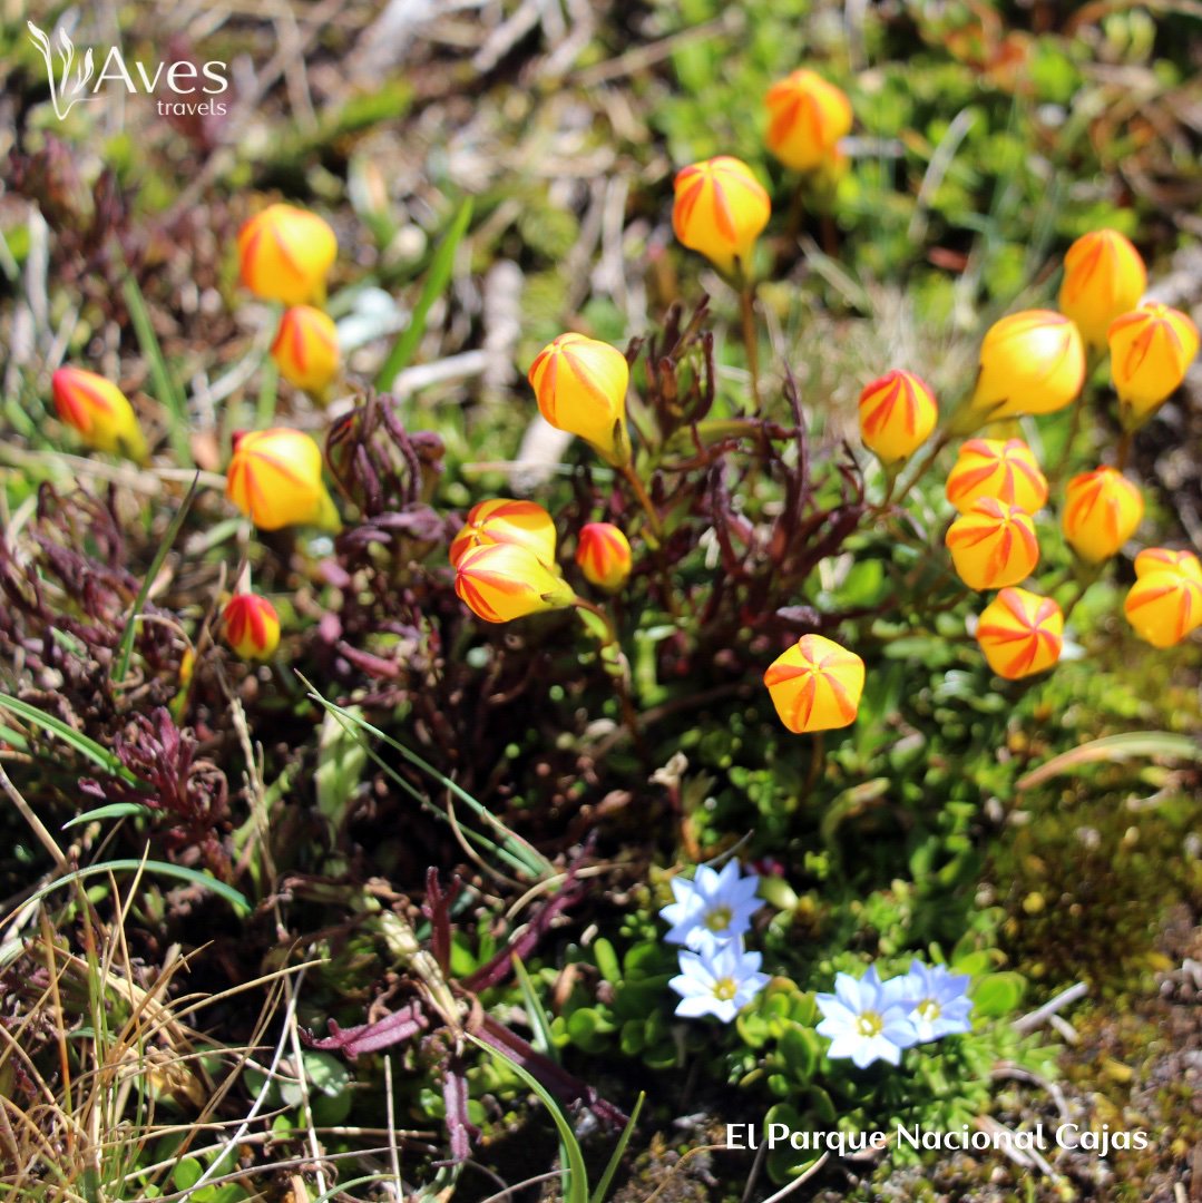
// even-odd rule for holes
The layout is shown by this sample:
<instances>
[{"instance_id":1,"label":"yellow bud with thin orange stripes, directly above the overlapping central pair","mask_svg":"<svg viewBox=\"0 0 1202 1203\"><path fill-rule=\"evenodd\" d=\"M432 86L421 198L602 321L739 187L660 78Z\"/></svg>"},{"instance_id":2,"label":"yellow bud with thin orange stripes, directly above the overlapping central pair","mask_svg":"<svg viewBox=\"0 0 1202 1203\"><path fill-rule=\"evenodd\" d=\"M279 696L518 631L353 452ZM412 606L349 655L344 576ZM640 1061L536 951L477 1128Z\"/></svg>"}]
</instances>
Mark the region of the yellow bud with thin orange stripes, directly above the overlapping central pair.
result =
<instances>
[{"instance_id":1,"label":"yellow bud with thin orange stripes, directly above the overlapping central pair","mask_svg":"<svg viewBox=\"0 0 1202 1203\"><path fill-rule=\"evenodd\" d=\"M527 379L539 411L552 426L591 443L615 467L630 462L626 433L630 368L620 350L584 334L561 334L539 351Z\"/></svg>"}]
</instances>

